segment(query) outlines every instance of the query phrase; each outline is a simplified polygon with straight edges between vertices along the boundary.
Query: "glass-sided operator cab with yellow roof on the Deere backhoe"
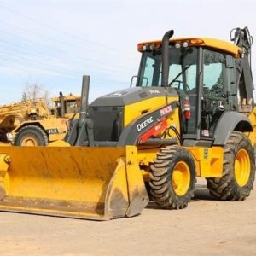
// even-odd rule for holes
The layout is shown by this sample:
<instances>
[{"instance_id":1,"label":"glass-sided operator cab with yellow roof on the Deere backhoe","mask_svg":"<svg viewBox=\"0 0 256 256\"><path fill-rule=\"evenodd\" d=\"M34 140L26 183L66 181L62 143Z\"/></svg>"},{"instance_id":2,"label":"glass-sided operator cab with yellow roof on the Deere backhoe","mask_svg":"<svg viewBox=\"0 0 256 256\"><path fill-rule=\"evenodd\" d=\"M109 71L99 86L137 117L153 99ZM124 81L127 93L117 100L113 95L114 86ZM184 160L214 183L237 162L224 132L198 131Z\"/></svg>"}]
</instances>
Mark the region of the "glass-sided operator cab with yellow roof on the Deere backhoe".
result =
<instances>
[{"instance_id":1,"label":"glass-sided operator cab with yellow roof on the Deere backhoe","mask_svg":"<svg viewBox=\"0 0 256 256\"><path fill-rule=\"evenodd\" d=\"M143 53L137 86L162 85L161 42L138 44ZM222 46L222 49L220 49ZM209 38L172 39L168 48L168 88L179 95L184 139L210 140L218 119L226 111L238 110L236 57L241 48ZM253 97L247 95L247 97ZM190 116L184 116L189 101Z\"/></svg>"}]
</instances>

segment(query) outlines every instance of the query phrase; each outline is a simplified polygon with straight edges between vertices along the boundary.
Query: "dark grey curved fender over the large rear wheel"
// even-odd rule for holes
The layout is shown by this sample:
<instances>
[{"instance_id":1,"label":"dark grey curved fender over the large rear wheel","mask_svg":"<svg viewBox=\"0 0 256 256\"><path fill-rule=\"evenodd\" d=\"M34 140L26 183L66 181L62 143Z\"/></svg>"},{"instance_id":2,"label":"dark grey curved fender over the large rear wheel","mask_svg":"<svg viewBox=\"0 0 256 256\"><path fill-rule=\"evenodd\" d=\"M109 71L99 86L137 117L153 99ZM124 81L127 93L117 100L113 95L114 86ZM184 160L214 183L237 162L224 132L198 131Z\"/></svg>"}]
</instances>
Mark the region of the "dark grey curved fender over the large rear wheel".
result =
<instances>
[{"instance_id":1,"label":"dark grey curved fender over the large rear wheel","mask_svg":"<svg viewBox=\"0 0 256 256\"><path fill-rule=\"evenodd\" d=\"M253 125L243 113L225 112L218 120L218 125L214 132L213 145L226 144L232 131L253 131Z\"/></svg>"}]
</instances>

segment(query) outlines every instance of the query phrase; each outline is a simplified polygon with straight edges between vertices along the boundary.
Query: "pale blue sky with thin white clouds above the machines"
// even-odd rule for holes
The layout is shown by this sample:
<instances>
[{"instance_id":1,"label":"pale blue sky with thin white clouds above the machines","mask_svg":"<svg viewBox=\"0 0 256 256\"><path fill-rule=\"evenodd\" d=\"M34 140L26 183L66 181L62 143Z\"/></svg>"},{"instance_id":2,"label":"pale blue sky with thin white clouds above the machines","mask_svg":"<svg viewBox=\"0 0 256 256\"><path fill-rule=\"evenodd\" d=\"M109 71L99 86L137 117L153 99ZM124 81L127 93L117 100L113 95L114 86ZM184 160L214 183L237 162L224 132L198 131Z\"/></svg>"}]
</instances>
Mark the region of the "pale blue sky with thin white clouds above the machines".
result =
<instances>
[{"instance_id":1,"label":"pale blue sky with thin white clouds above the machines","mask_svg":"<svg viewBox=\"0 0 256 256\"><path fill-rule=\"evenodd\" d=\"M0 105L20 101L26 84L42 84L51 96L80 94L83 74L91 101L130 85L138 42L169 29L230 40L237 26L256 38L255 9L254 0L0 0Z\"/></svg>"}]
</instances>

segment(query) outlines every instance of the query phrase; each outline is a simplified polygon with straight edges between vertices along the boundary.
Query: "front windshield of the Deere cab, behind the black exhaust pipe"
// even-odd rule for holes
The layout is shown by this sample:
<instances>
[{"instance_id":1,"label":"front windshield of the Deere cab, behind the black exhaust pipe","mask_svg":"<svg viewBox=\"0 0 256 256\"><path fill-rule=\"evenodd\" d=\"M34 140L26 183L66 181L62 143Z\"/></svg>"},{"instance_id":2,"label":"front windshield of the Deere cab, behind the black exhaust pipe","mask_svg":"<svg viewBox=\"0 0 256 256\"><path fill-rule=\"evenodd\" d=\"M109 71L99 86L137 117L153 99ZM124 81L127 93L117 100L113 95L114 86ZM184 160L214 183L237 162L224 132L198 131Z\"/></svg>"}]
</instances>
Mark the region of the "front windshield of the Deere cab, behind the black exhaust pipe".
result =
<instances>
[{"instance_id":1,"label":"front windshield of the Deere cab, behind the black exhaust pipe","mask_svg":"<svg viewBox=\"0 0 256 256\"><path fill-rule=\"evenodd\" d=\"M195 47L169 49L168 84L180 90L192 90L196 82L197 51ZM161 52L144 52L137 86L160 86Z\"/></svg>"}]
</instances>

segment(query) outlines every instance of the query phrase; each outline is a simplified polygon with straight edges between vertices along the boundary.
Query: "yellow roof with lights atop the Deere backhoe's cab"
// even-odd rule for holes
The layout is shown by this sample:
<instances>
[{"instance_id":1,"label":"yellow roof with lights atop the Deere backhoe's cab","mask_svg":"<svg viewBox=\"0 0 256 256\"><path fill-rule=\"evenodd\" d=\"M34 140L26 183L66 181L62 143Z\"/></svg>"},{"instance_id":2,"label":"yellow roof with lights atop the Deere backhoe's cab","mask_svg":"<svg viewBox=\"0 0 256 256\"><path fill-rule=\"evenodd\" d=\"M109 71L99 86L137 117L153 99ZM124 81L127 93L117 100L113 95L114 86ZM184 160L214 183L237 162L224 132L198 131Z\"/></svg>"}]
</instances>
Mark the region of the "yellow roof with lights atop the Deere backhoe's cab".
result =
<instances>
[{"instance_id":1,"label":"yellow roof with lights atop the Deere backhoe's cab","mask_svg":"<svg viewBox=\"0 0 256 256\"><path fill-rule=\"evenodd\" d=\"M230 55L234 55L235 57L238 57L241 54L241 48L235 44L214 38L171 38L170 42L172 44L179 43L181 45L183 45L184 42L187 42L188 46L209 47L218 51L226 52ZM148 49L151 47L159 49L161 44L162 41L160 40L143 42L137 44L137 49L140 52L143 51L143 47L148 47Z\"/></svg>"}]
</instances>

